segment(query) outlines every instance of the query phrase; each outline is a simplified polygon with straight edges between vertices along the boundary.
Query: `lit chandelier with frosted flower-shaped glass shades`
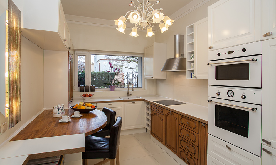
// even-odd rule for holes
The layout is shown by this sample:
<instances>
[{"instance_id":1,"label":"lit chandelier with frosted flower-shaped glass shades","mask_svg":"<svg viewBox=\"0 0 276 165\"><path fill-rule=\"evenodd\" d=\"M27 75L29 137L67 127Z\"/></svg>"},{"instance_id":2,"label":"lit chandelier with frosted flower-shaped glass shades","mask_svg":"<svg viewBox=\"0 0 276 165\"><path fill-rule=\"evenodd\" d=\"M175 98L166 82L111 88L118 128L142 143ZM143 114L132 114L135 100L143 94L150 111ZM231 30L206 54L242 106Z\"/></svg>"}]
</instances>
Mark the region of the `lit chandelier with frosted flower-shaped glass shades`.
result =
<instances>
[{"instance_id":1,"label":"lit chandelier with frosted flower-shaped glass shades","mask_svg":"<svg viewBox=\"0 0 276 165\"><path fill-rule=\"evenodd\" d=\"M137 0L138 1L138 0ZM154 0L156 1L156 0ZM139 2L139 1L138 1ZM159 4L159 1L156 1L155 4ZM137 37L137 29L146 29L147 28L147 35L146 37L151 37L154 35L152 32L152 27L154 23L159 23L159 27L161 30L161 33L165 32L169 29L169 26L171 26L174 22L174 20L171 20L168 16L164 16L163 13L159 12L163 9L153 9L152 6L155 4L151 4L149 1L143 0L143 3L139 2L139 5L134 4L133 1L130 1L129 6L133 6L136 9L128 11L125 16L121 16L119 19L114 20L115 25L118 25L117 30L124 33L124 30L127 27L127 19L129 19L129 22L135 23L134 27L131 30L130 36ZM159 11L158 11L159 10ZM129 13L127 19L126 16ZM163 20L162 23L161 20Z\"/></svg>"}]
</instances>

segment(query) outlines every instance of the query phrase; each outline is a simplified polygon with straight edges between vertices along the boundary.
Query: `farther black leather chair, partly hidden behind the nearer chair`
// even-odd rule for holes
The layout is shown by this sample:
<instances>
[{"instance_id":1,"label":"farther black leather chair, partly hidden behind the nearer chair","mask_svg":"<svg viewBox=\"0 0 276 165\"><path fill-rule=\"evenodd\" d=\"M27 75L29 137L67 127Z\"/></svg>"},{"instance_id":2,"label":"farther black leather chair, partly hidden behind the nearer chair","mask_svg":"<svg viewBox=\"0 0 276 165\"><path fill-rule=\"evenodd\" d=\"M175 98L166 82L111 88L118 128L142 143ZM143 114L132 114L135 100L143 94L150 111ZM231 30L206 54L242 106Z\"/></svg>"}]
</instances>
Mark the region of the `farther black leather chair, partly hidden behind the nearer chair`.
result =
<instances>
[{"instance_id":1,"label":"farther black leather chair, partly hidden behind the nearer chair","mask_svg":"<svg viewBox=\"0 0 276 165\"><path fill-rule=\"evenodd\" d=\"M112 109L106 108L106 107L104 107L102 109L102 111L103 111L103 113L105 113L105 116L107 117L107 124L104 128L102 128L98 132L93 133L92 136L97 136L97 137L109 136L111 127L115 123L115 116L116 116L115 111L113 111Z\"/></svg>"}]
</instances>

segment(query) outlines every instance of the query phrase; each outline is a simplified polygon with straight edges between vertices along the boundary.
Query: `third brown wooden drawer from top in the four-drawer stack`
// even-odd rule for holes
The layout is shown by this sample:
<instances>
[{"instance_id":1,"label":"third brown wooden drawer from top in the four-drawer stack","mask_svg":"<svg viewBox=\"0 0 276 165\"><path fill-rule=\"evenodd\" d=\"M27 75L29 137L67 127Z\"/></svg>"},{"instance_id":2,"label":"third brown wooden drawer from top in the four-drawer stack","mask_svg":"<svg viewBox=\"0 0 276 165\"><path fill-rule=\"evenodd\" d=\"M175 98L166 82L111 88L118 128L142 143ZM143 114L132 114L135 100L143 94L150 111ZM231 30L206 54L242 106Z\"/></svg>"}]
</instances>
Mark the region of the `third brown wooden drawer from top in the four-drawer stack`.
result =
<instances>
[{"instance_id":1,"label":"third brown wooden drawer from top in the four-drawer stack","mask_svg":"<svg viewBox=\"0 0 276 165\"><path fill-rule=\"evenodd\" d=\"M190 144L187 142L184 138L179 136L179 142L178 145L181 149L188 152L190 155L198 159L198 147L195 145Z\"/></svg>"}]
</instances>

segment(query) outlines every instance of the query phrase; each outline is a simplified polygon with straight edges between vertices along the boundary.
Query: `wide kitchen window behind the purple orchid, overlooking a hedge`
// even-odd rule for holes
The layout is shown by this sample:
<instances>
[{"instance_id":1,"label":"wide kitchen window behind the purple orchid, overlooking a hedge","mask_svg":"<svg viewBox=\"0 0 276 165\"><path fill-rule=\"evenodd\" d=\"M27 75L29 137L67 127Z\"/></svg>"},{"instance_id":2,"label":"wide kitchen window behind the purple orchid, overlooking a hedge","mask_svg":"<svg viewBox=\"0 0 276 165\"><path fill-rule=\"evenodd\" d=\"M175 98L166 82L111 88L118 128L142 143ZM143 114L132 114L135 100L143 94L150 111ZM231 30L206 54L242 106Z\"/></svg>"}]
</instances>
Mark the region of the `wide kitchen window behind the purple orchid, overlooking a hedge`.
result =
<instances>
[{"instance_id":1,"label":"wide kitchen window behind the purple orchid, overlooking a hedge","mask_svg":"<svg viewBox=\"0 0 276 165\"><path fill-rule=\"evenodd\" d=\"M103 53L104 54L104 53ZM75 90L80 85L95 85L95 89L109 88L105 83L116 83L115 88L125 88L132 83L142 87L142 56L89 53L75 51ZM112 64L112 67L110 65Z\"/></svg>"}]
</instances>

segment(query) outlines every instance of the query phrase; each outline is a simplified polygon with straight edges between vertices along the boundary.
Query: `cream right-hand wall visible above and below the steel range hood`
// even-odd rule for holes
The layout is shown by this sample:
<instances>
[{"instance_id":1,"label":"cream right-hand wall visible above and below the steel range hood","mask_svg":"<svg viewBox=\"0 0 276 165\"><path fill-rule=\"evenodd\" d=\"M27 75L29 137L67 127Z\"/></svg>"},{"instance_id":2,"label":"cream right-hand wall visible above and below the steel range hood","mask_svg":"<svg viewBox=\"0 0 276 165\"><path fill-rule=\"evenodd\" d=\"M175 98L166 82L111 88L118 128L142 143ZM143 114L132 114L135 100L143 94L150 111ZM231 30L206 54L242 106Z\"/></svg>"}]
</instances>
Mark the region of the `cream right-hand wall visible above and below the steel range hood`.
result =
<instances>
[{"instance_id":1,"label":"cream right-hand wall visible above and below the steel range hood","mask_svg":"<svg viewBox=\"0 0 276 165\"><path fill-rule=\"evenodd\" d=\"M167 44L167 58L174 57L174 35L184 35L186 57L186 26L207 17L207 7L218 0L211 0L191 13L176 20L169 30L155 33L155 42ZM156 80L156 94L202 106L208 106L208 80L186 79L186 72L167 72L167 79Z\"/></svg>"}]
</instances>

